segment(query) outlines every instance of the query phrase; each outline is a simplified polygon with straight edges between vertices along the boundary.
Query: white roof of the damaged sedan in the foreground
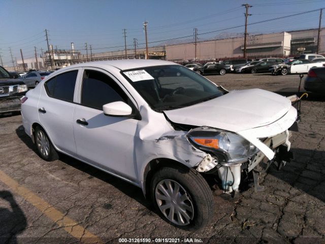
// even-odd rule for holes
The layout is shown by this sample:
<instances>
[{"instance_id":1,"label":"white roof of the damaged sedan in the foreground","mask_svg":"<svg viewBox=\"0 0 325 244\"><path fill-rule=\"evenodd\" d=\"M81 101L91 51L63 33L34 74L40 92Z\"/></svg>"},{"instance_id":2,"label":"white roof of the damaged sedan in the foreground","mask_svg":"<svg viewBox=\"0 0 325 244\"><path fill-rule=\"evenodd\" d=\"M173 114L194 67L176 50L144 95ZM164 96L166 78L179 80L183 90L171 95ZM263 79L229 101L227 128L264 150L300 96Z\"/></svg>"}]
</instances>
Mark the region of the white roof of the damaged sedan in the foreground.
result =
<instances>
[{"instance_id":1,"label":"white roof of the damaged sedan in the foreground","mask_svg":"<svg viewBox=\"0 0 325 244\"><path fill-rule=\"evenodd\" d=\"M129 70L129 69L137 69L137 68L160 66L160 65L177 65L177 64L165 60L156 60L156 59L122 59L122 60L96 61L96 62L88 62L88 63L82 63L77 65L71 65L66 68L60 69L60 71L71 69L71 68L79 68L79 67L99 67L104 69L108 67L115 67L119 70Z\"/></svg>"}]
</instances>

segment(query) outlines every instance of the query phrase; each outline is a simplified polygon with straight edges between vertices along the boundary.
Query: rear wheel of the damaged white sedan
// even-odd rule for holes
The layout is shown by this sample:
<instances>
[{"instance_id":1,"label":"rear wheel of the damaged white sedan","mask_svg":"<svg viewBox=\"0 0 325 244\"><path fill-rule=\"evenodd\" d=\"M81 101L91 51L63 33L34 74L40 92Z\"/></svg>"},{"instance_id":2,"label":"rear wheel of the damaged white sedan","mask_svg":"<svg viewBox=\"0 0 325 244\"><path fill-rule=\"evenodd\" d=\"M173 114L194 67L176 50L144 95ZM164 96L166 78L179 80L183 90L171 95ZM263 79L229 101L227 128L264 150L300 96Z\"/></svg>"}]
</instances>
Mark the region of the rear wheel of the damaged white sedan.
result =
<instances>
[{"instance_id":1,"label":"rear wheel of the damaged white sedan","mask_svg":"<svg viewBox=\"0 0 325 244\"><path fill-rule=\"evenodd\" d=\"M43 130L43 128L36 127L34 135L35 135L35 144L36 144L39 156L48 162L57 160L59 158L59 155L58 155L57 151L55 150L54 146L52 145L52 142L49 139L48 135ZM42 138L41 135L44 136L44 139ZM42 148L42 146L41 146L42 139L43 139L43 142L46 142L46 141L48 142L48 153L47 154L44 153L44 148L43 148L43 150L41 149Z\"/></svg>"}]
</instances>

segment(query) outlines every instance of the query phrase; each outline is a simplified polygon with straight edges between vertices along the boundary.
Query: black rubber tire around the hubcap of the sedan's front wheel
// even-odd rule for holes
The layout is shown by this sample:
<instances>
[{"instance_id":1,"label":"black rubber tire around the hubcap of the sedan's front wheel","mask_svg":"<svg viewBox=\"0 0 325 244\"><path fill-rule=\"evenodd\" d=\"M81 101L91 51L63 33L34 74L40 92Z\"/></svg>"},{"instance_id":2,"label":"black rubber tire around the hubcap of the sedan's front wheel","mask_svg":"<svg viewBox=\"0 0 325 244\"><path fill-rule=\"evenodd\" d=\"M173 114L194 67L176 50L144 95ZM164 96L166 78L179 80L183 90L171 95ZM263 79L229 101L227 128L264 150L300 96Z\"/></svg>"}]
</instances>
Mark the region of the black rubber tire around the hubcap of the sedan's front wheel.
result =
<instances>
[{"instance_id":1,"label":"black rubber tire around the hubcap of the sedan's front wheel","mask_svg":"<svg viewBox=\"0 0 325 244\"><path fill-rule=\"evenodd\" d=\"M171 222L158 206L159 199L156 198L156 188L163 180L171 180L179 184L189 198L192 206L192 218L187 225L178 225ZM175 183L174 183L175 184ZM174 185L175 186L175 185ZM158 189L158 188L157 188ZM212 192L202 175L194 169L186 169L182 167L164 167L158 170L151 180L151 199L157 208L160 216L168 223L189 231L204 228L213 216L213 196ZM175 190L175 189L174 189ZM159 190L157 190L159 191ZM171 204L171 202L169 202ZM167 201L165 201L167 204ZM181 206L180 204L178 206ZM176 209L176 208L175 208ZM167 210L166 210L167 211ZM177 214L175 214L177 216ZM177 216L179 220L179 217Z\"/></svg>"}]
</instances>

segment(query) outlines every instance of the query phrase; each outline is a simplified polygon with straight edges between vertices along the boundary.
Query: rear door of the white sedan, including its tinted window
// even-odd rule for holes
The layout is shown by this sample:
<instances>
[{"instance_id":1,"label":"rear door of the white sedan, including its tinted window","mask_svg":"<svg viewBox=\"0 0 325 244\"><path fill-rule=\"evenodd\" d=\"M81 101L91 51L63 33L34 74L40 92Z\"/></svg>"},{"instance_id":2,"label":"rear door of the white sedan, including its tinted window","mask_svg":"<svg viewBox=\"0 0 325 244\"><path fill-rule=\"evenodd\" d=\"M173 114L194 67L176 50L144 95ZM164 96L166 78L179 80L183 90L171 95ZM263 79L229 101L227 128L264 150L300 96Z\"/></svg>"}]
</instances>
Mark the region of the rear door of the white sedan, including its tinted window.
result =
<instances>
[{"instance_id":1,"label":"rear door of the white sedan, including its tinted window","mask_svg":"<svg viewBox=\"0 0 325 244\"><path fill-rule=\"evenodd\" d=\"M42 86L38 103L39 119L54 145L75 155L72 118L78 69L60 73Z\"/></svg>"}]
</instances>

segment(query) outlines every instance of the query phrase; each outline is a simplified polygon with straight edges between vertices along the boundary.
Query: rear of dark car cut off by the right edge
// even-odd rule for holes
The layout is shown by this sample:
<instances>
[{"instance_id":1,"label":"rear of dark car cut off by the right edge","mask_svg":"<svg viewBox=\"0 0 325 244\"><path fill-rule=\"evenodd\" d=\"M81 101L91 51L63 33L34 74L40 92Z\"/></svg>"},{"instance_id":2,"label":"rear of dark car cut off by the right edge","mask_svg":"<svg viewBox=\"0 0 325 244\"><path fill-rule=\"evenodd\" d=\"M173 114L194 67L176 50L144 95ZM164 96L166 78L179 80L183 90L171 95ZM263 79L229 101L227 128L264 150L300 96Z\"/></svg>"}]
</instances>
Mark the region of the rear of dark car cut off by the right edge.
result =
<instances>
[{"instance_id":1,"label":"rear of dark car cut off by the right edge","mask_svg":"<svg viewBox=\"0 0 325 244\"><path fill-rule=\"evenodd\" d=\"M304 88L308 92L325 94L325 67L311 68L305 79Z\"/></svg>"}]
</instances>

